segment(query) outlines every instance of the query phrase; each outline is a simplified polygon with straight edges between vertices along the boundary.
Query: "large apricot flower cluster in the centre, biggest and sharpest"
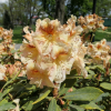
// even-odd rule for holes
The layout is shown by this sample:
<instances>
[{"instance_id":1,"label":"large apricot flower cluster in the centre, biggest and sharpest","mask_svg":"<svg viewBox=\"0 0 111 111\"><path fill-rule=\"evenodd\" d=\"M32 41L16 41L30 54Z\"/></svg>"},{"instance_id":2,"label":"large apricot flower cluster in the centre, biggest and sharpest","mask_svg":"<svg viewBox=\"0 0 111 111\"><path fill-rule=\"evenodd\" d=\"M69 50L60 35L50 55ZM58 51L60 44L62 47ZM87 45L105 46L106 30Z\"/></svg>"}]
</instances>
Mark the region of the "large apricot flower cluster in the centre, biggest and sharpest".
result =
<instances>
[{"instance_id":1,"label":"large apricot flower cluster in the centre, biggest and sharpest","mask_svg":"<svg viewBox=\"0 0 111 111\"><path fill-rule=\"evenodd\" d=\"M87 77L84 54L87 48L82 44L81 27L75 27L77 18L71 16L67 24L61 26L58 20L37 20L36 32L26 27L23 43L20 48L27 60L27 77L31 84L59 88L72 69L78 74Z\"/></svg>"}]
</instances>

